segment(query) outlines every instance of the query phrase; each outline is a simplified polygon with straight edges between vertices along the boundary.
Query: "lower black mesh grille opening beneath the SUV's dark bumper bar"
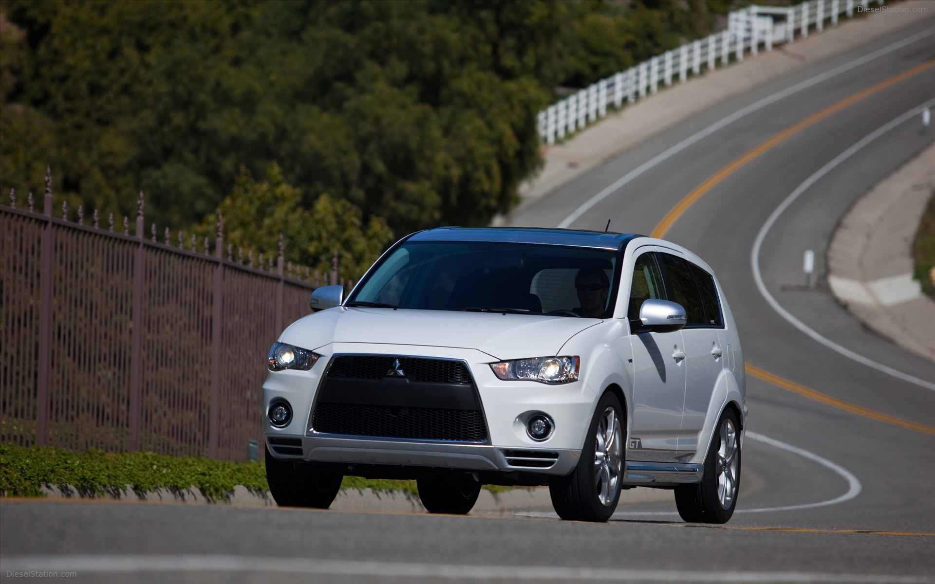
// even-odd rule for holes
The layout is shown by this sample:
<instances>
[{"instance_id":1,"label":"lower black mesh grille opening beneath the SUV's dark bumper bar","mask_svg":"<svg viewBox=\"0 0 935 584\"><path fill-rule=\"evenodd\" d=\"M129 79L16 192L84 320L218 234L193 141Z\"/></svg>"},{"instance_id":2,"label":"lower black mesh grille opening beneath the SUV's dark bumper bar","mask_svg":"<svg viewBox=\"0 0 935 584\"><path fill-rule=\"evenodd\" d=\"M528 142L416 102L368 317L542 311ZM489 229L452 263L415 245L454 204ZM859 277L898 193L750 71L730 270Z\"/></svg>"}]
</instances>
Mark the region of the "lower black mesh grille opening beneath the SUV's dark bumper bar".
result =
<instances>
[{"instance_id":1,"label":"lower black mesh grille opening beneath the SUV's dark bumper bar","mask_svg":"<svg viewBox=\"0 0 935 584\"><path fill-rule=\"evenodd\" d=\"M482 413L460 409L319 403L311 427L323 434L456 442L487 439Z\"/></svg>"}]
</instances>

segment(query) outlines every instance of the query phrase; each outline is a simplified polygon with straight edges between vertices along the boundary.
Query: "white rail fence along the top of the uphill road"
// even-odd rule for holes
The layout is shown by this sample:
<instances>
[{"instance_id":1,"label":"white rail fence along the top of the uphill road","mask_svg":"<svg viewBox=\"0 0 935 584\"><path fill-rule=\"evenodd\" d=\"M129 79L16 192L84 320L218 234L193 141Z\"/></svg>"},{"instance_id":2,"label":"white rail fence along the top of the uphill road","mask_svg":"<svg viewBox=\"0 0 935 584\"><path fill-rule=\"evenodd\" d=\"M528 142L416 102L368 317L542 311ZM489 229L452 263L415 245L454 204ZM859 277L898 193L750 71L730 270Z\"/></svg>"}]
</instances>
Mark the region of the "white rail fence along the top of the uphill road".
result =
<instances>
[{"instance_id":1,"label":"white rail fence along the top of the uphill road","mask_svg":"<svg viewBox=\"0 0 935 584\"><path fill-rule=\"evenodd\" d=\"M540 111L537 123L543 142L581 130L587 124L607 115L607 108L619 108L624 100L633 103L637 97L656 93L660 83L670 86L674 78L683 82L689 74L698 76L701 67L713 70L724 66L731 56L742 61L745 54L755 55L760 48L772 50L774 44L792 42L798 36L809 36L809 27L820 32L826 21L838 24L841 14L849 18L856 11L866 10L870 2L884 0L809 0L797 6L750 6L728 15L727 29L693 43L656 55L626 71L592 83L578 93Z\"/></svg>"}]
</instances>

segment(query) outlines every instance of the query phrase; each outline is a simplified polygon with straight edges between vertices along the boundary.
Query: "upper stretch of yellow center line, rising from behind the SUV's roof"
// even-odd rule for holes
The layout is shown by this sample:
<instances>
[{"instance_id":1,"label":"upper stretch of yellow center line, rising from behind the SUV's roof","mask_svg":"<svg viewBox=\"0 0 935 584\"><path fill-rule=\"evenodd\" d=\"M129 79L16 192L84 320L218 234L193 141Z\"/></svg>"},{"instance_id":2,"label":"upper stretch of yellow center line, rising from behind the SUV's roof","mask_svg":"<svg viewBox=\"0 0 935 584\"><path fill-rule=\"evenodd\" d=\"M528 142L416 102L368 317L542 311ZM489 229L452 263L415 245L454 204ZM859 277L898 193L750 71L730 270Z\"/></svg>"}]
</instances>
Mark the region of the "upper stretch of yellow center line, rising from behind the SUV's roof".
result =
<instances>
[{"instance_id":1,"label":"upper stretch of yellow center line, rising from behind the SUV's roof","mask_svg":"<svg viewBox=\"0 0 935 584\"><path fill-rule=\"evenodd\" d=\"M741 156L734 162L727 164L724 168L714 173L707 180L699 184L698 187L696 187L694 191L686 194L685 197L681 201L679 201L678 205L676 205L675 207L672 207L671 210L669 210L669 212L666 213L666 216L662 218L662 221L659 221L659 224L655 226L655 229L653 230L653 233L651 234L651 236L661 238L663 235L666 234L667 231L669 231L669 227L672 226L672 223L674 223L675 221L678 221L678 219L682 217L682 214L685 212L685 210L687 210L688 207L691 207L693 203L698 201L698 199L700 199L701 196L704 195L705 192L711 191L714 185L721 182L725 178L729 177L741 166L754 160L760 154L766 152L767 150L770 150L774 146L783 142L789 136L798 134L798 132L809 127L816 121L823 120L827 118L828 116L830 116L831 114L835 113L836 111L840 111L844 107L852 106L856 104L858 101L860 101L861 99L864 99L865 97L868 97L872 95L873 93L877 93L879 91L885 90L887 87L896 85L897 83L899 83L899 81L905 80L907 78L911 78L913 77L913 75L917 75L925 71L931 66L935 66L935 59L932 59L931 61L927 61L926 63L923 63L923 64L918 64L914 66L912 69L909 69L908 71L904 71L903 73L900 73L899 75L895 77L885 79L884 81L881 81L877 83L876 85L872 85L868 87L862 92L858 92L858 93L855 93L854 95L851 95L850 97L846 97L842 99L840 102L838 102L837 104L834 104L833 106L828 106L825 109L822 109L821 111L809 116L805 120L799 121L797 124L786 128L779 134L772 136L769 140L767 140L766 142L763 142L762 144L757 146L754 150L750 150L749 152L747 152L746 154L744 154L743 156Z\"/></svg>"}]
</instances>

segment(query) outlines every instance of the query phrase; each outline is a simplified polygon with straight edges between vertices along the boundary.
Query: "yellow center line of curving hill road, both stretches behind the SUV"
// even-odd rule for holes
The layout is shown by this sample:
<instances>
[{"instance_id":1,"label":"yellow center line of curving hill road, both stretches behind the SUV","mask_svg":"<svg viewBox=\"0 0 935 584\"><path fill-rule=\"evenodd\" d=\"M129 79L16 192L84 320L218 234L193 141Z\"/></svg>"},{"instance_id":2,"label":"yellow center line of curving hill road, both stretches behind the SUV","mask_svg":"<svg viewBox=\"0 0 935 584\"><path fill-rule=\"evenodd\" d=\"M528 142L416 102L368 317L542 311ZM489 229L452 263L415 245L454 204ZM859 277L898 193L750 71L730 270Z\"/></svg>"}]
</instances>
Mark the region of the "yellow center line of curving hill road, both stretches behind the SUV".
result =
<instances>
[{"instance_id":1,"label":"yellow center line of curving hill road, both stretches behind the SUV","mask_svg":"<svg viewBox=\"0 0 935 584\"><path fill-rule=\"evenodd\" d=\"M764 152L782 143L786 138L792 135L798 134L798 132L811 126L816 121L824 120L831 114L837 111L841 111L841 109L845 107L852 106L856 104L858 101L864 99L865 97L872 95L873 93L880 92L882 90L885 90L887 87L892 87L893 85L896 85L902 80L911 78L914 75L917 75L932 66L935 66L935 59L931 61L927 61L926 63L923 63L923 64L918 64L914 66L912 69L909 69L908 71L904 71L900 73L899 75L885 79L884 81L881 81L875 85L872 85L861 92L857 92L851 95L850 97L846 97L842 99L840 102L832 106L828 106L822 109L821 111L814 113L808 118L802 121L799 121L795 125L792 125L786 128L779 134L772 136L769 140L767 140L766 142L763 142L762 144L757 146L754 150L750 150L749 152L743 154L740 158L738 158L734 162L727 164L724 168L717 171L707 180L699 184L698 187L696 187L692 192L689 192L688 194L686 194L684 198L681 201L679 201L679 203L675 207L672 207L669 210L669 212L666 213L666 216L662 218L662 221L659 221L659 224L655 226L653 233L651 235L653 237L661 238L663 235L666 234L666 232L669 231L669 228L672 226L672 224L675 223L675 221L678 221L680 217L682 217L683 213L688 209L688 207L691 207L692 205L694 205L698 201L698 199L700 199L706 192L711 191L712 188L716 184L718 184L725 178L732 175L734 172L740 169L741 166L753 161L755 158L757 158ZM750 363L746 363L746 372L754 377L757 377L759 379L772 383L773 385L777 385L781 388L789 390L790 392L796 392L799 395L804 395L806 397L812 398L813 400L822 402L823 404L827 404L828 406L839 407L851 413L864 416L872 420L879 420L879 421L884 421L886 423L894 424L901 428L906 428L907 430L913 430L915 432L921 432L923 434L935 435L935 428L931 426L926 426L924 424L915 423L909 420L902 420L900 418L895 418L893 416L887 416L885 414L881 414L879 412L873 411L866 407L856 406L855 404L845 402L836 397L831 397L830 395L826 395L821 392L815 392L814 390L811 390L803 385L799 385L798 383L789 381L788 379L784 379L783 377L779 377L767 371L764 371L760 369L759 367L756 367Z\"/></svg>"}]
</instances>

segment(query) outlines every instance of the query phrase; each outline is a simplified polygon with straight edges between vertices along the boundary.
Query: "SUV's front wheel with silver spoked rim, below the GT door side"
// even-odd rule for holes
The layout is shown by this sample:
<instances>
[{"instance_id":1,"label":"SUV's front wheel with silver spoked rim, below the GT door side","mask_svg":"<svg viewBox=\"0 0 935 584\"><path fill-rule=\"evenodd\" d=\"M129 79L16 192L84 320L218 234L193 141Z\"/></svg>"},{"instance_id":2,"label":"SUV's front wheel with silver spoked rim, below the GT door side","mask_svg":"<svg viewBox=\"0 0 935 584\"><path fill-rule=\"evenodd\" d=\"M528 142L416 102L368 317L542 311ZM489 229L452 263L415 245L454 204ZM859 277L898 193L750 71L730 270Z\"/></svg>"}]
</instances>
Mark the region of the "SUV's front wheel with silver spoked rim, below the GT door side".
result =
<instances>
[{"instance_id":1,"label":"SUV's front wheel with silver spoked rim, below the GT door side","mask_svg":"<svg viewBox=\"0 0 935 584\"><path fill-rule=\"evenodd\" d=\"M610 420L606 414L613 411L615 428L607 433ZM600 429L600 435L598 435ZM611 435L606 441L604 436ZM549 484L552 506L563 520L606 521L617 508L623 486L623 465L626 449L626 417L620 400L611 392L597 402L597 409L588 427L581 459L568 477L555 477ZM609 447L605 448L605 441ZM615 444L614 444L614 441ZM607 462L606 465L604 462ZM597 469L597 470L596 470ZM598 481L598 476L601 480ZM605 488L606 486L606 488Z\"/></svg>"}]
</instances>

